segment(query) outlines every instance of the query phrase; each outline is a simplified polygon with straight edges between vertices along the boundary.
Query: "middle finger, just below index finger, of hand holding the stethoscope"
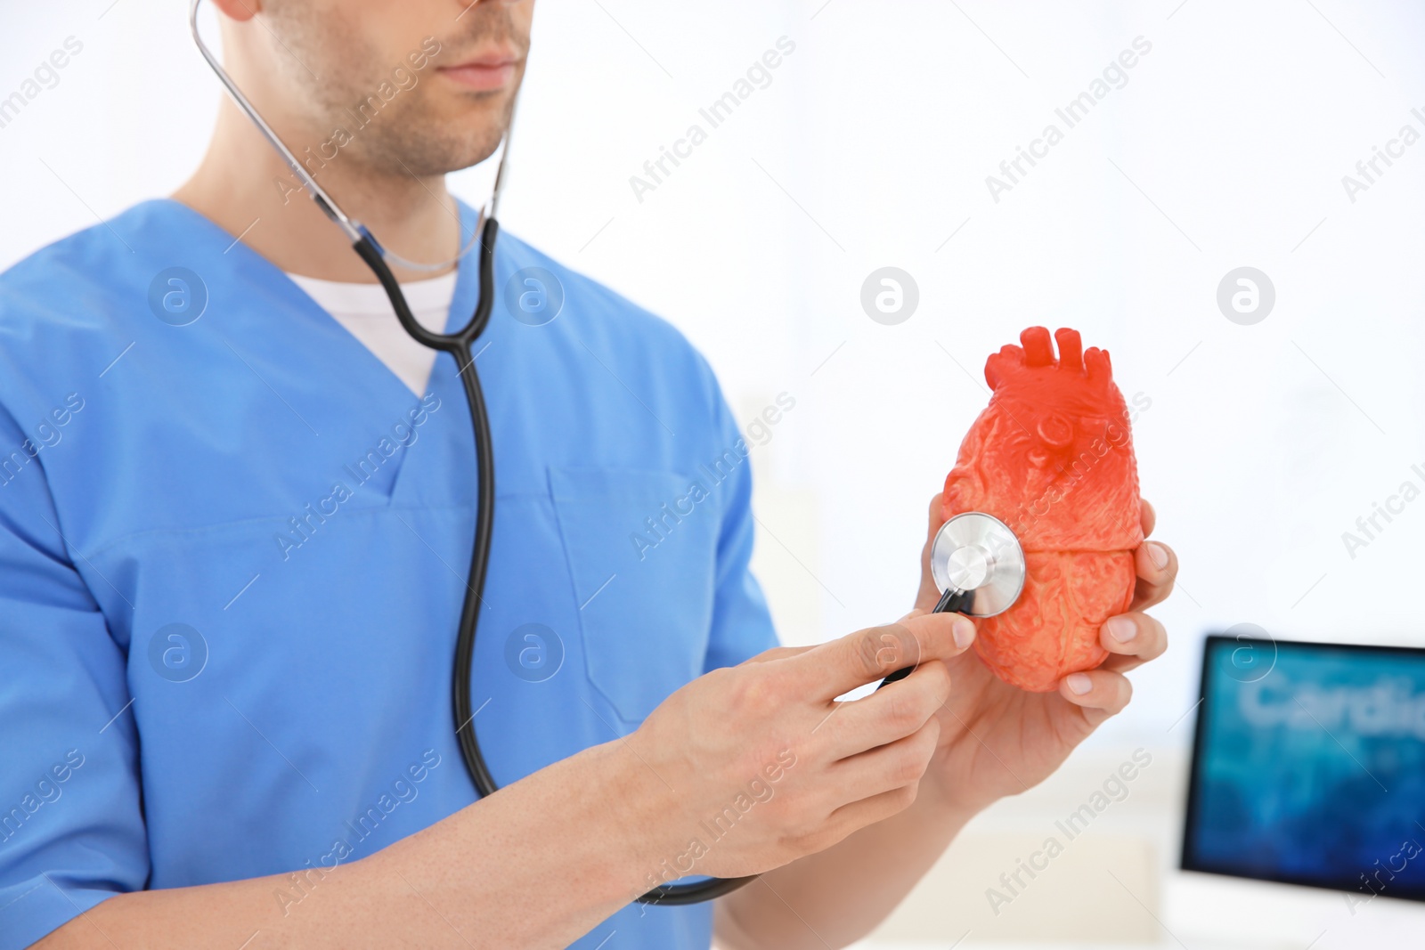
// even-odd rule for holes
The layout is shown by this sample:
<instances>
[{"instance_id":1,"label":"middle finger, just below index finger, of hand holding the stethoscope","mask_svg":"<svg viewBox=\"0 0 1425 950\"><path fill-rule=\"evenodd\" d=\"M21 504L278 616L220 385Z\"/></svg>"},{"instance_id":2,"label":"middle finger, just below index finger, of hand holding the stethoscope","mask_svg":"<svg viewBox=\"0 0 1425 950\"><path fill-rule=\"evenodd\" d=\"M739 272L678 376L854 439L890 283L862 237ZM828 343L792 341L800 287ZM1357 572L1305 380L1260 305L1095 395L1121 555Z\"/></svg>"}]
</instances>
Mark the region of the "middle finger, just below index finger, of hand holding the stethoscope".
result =
<instances>
[{"instance_id":1,"label":"middle finger, just below index finger, of hand holding the stethoscope","mask_svg":"<svg viewBox=\"0 0 1425 950\"><path fill-rule=\"evenodd\" d=\"M950 671L939 659L869 696L835 704L814 729L829 759L846 759L913 735L950 698Z\"/></svg>"}]
</instances>

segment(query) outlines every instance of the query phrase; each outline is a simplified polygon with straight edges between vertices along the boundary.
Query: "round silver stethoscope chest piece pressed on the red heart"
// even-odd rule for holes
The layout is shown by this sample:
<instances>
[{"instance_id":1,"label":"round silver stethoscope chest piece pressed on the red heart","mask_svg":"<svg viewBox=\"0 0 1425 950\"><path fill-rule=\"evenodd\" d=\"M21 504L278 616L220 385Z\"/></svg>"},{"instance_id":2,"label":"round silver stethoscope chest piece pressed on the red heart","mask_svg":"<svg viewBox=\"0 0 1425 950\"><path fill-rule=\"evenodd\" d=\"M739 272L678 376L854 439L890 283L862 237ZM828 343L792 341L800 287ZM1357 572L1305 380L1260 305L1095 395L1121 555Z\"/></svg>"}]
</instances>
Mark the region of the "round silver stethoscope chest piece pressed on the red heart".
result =
<instances>
[{"instance_id":1,"label":"round silver stethoscope chest piece pressed on the red heart","mask_svg":"<svg viewBox=\"0 0 1425 950\"><path fill-rule=\"evenodd\" d=\"M966 511L940 526L931 544L931 577L942 602L970 617L993 617L1025 590L1025 550L1009 526L983 511Z\"/></svg>"}]
</instances>

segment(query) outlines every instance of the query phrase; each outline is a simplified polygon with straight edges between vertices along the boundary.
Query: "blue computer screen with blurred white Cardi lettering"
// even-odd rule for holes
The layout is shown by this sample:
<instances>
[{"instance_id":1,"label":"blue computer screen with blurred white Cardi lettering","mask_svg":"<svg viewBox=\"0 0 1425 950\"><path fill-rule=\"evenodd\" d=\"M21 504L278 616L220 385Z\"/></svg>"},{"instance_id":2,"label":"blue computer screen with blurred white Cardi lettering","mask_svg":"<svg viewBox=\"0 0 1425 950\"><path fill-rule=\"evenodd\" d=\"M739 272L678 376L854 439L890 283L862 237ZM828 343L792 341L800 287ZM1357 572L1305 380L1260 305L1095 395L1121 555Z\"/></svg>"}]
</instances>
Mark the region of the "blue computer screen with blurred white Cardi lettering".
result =
<instances>
[{"instance_id":1,"label":"blue computer screen with blurred white Cardi lettering","mask_svg":"<svg viewBox=\"0 0 1425 950\"><path fill-rule=\"evenodd\" d=\"M1425 651L1210 637L1183 867L1425 900Z\"/></svg>"}]
</instances>

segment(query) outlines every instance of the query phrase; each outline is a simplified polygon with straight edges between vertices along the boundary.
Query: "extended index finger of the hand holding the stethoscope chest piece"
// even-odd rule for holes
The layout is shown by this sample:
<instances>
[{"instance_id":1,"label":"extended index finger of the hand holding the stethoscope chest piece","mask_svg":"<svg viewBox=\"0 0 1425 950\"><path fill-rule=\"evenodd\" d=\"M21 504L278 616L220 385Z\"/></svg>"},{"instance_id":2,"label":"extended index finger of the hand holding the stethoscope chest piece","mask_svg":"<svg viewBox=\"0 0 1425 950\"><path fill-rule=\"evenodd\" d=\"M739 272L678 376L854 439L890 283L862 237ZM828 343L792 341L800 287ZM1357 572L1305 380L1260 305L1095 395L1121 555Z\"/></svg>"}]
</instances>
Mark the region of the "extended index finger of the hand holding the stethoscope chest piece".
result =
<instances>
[{"instance_id":1,"label":"extended index finger of the hand holding the stethoscope chest piece","mask_svg":"<svg viewBox=\"0 0 1425 950\"><path fill-rule=\"evenodd\" d=\"M811 699L835 699L905 667L949 659L975 640L975 622L960 614L922 614L869 627L789 658L795 688Z\"/></svg>"}]
</instances>

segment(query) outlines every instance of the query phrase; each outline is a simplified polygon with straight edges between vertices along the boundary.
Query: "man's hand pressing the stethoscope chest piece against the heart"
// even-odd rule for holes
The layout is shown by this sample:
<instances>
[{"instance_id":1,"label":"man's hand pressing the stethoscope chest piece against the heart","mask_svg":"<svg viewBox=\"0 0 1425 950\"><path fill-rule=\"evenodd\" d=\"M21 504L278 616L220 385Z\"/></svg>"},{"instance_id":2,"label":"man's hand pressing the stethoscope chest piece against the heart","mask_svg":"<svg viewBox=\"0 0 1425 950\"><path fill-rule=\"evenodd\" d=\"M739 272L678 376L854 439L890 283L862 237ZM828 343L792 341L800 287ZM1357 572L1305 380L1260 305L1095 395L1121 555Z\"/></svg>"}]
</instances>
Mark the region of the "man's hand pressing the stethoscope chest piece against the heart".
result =
<instances>
[{"instance_id":1,"label":"man's hand pressing the stethoscope chest piece against the heart","mask_svg":"<svg viewBox=\"0 0 1425 950\"><path fill-rule=\"evenodd\" d=\"M660 818L660 876L762 873L909 806L940 743L946 662L972 637L956 614L908 617L771 649L668 696L626 742L651 796L640 812ZM916 664L893 691L835 702Z\"/></svg>"}]
</instances>

